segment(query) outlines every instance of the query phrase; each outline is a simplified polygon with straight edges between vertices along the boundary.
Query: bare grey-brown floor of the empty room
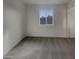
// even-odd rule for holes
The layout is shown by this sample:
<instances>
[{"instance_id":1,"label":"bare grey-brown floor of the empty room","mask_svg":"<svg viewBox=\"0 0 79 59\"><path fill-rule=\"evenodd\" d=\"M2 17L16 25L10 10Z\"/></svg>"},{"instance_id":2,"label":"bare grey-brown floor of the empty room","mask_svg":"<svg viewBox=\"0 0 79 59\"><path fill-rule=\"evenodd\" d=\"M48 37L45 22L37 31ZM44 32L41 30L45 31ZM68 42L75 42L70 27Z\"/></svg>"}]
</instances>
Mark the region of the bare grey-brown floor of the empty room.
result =
<instances>
[{"instance_id":1,"label":"bare grey-brown floor of the empty room","mask_svg":"<svg viewBox=\"0 0 79 59\"><path fill-rule=\"evenodd\" d=\"M75 39L28 37L4 59L75 59Z\"/></svg>"}]
</instances>

